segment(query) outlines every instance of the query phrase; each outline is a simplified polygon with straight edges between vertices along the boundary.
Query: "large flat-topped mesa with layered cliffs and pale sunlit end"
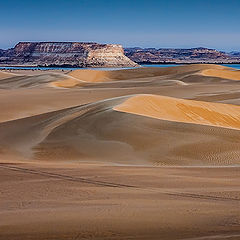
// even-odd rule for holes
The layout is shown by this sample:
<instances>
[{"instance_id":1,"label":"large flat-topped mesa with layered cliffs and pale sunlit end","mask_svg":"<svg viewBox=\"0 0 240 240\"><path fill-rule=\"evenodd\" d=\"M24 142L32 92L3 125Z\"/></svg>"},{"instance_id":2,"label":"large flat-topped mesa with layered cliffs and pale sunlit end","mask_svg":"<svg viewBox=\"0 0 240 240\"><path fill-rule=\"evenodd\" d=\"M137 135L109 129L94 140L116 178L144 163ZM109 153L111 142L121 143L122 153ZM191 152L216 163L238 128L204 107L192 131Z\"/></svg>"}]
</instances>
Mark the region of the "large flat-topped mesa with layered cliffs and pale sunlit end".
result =
<instances>
[{"instance_id":1,"label":"large flat-topped mesa with layered cliffs and pale sunlit end","mask_svg":"<svg viewBox=\"0 0 240 240\"><path fill-rule=\"evenodd\" d=\"M121 45L83 42L19 42L0 64L24 66L135 67Z\"/></svg>"}]
</instances>

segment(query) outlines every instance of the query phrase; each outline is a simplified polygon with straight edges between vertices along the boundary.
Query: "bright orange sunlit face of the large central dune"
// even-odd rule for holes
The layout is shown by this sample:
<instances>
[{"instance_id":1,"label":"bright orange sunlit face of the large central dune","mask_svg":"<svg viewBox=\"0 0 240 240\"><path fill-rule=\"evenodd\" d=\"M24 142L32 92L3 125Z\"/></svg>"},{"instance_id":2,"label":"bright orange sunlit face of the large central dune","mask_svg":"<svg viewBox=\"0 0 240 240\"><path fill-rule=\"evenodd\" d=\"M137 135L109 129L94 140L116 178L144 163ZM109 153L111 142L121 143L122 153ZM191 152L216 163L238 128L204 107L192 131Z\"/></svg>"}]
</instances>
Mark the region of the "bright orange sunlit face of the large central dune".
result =
<instances>
[{"instance_id":1,"label":"bright orange sunlit face of the large central dune","mask_svg":"<svg viewBox=\"0 0 240 240\"><path fill-rule=\"evenodd\" d=\"M169 121L240 129L240 107L229 104L138 95L114 110Z\"/></svg>"}]
</instances>

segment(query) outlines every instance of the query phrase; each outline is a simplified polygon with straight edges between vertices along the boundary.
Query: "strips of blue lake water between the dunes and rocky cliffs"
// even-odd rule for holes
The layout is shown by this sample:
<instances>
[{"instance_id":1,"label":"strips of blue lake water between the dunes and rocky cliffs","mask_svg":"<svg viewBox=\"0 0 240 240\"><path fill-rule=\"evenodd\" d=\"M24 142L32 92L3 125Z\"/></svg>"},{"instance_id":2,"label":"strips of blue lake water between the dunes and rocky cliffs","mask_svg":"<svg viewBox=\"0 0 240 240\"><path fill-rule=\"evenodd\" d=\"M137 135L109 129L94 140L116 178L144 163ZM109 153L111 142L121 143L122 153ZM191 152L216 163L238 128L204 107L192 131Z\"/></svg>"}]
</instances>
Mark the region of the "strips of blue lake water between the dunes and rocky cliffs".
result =
<instances>
[{"instance_id":1,"label":"strips of blue lake water between the dunes and rocky cliffs","mask_svg":"<svg viewBox=\"0 0 240 240\"><path fill-rule=\"evenodd\" d=\"M143 64L143 67L175 67L180 64ZM226 67L231 67L235 69L240 69L240 64L221 64ZM76 69L95 69L95 70L119 70L119 69L131 69L131 68L62 68L62 67L0 67L0 69L26 69L26 70L65 70L71 71Z\"/></svg>"}]
</instances>

